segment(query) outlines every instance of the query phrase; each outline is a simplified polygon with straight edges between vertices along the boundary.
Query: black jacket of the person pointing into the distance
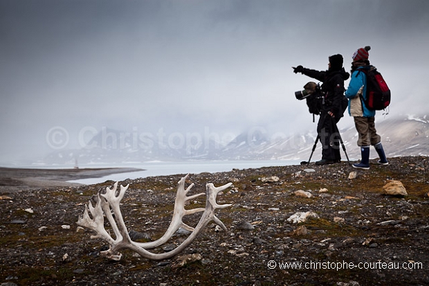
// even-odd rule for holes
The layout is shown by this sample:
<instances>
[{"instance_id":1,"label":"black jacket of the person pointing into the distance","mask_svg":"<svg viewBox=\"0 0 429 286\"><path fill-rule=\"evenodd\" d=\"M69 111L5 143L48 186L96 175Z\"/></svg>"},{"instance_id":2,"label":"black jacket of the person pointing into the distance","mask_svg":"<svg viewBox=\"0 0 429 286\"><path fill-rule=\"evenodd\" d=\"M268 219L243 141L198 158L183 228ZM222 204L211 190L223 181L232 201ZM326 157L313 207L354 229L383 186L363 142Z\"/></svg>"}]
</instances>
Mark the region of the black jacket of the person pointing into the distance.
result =
<instances>
[{"instance_id":1,"label":"black jacket of the person pointing into the distance","mask_svg":"<svg viewBox=\"0 0 429 286\"><path fill-rule=\"evenodd\" d=\"M331 71L330 69L316 71L304 68L302 74L323 82L320 86L325 98L322 112L331 111L337 120L343 117L344 111L347 109L347 98L344 96L344 81L350 77L350 74L344 68L336 71Z\"/></svg>"}]
</instances>

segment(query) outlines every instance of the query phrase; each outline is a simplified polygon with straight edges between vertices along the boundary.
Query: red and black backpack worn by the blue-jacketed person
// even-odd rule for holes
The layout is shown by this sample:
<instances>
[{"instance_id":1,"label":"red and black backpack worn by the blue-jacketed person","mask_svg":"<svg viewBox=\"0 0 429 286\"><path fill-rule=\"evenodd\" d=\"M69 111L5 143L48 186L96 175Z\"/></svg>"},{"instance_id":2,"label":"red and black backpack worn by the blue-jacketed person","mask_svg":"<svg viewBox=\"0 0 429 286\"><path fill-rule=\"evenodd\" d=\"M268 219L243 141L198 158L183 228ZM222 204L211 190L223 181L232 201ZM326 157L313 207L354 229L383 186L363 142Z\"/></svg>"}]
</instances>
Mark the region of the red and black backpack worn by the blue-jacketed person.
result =
<instances>
[{"instance_id":1,"label":"red and black backpack worn by the blue-jacketed person","mask_svg":"<svg viewBox=\"0 0 429 286\"><path fill-rule=\"evenodd\" d=\"M367 75L367 96L363 98L368 109L383 110L390 105L390 89L376 68L360 69Z\"/></svg>"}]
</instances>

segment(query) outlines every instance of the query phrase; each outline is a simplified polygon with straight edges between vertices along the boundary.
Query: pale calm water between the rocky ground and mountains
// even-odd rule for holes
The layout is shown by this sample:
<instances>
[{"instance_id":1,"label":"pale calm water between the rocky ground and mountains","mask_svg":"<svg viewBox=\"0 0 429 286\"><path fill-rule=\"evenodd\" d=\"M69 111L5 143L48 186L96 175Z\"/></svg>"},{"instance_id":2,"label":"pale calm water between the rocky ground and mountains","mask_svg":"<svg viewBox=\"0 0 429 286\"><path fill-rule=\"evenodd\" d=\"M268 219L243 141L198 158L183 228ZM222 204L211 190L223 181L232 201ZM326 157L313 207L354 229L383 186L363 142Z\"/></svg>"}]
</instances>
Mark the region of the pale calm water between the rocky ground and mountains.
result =
<instances>
[{"instance_id":1,"label":"pale calm water between the rocky ground and mountains","mask_svg":"<svg viewBox=\"0 0 429 286\"><path fill-rule=\"evenodd\" d=\"M101 178L79 179L70 182L80 184L98 184L107 180L123 181L125 179L136 179L163 175L176 174L199 174L201 172L228 172L232 169L261 168L271 166L290 166L299 165L300 161L289 160L268 160L268 161L187 161L187 162L147 162L130 163L122 166L105 166L120 168L139 168L142 171L125 172L120 174L108 175ZM94 166L80 166L81 168L95 168ZM98 166L101 167L102 166Z\"/></svg>"}]
</instances>

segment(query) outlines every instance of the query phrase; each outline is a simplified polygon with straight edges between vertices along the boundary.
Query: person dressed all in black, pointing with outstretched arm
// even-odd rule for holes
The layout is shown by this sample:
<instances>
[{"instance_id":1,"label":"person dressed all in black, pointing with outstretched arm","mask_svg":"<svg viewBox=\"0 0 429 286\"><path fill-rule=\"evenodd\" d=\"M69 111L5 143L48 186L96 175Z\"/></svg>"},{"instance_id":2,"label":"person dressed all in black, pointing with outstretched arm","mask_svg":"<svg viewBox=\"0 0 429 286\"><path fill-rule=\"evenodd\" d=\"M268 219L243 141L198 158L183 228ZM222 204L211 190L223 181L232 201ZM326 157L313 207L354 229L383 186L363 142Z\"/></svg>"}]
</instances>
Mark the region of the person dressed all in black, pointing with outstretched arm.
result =
<instances>
[{"instance_id":1,"label":"person dressed all in black, pointing with outstretched arm","mask_svg":"<svg viewBox=\"0 0 429 286\"><path fill-rule=\"evenodd\" d=\"M322 108L318 121L317 132L322 143L322 159L316 165L327 165L341 161L340 134L336 132L336 123L343 117L347 108L347 98L344 96L344 81L349 73L343 68L343 55L331 55L327 71L306 69L303 66L293 68L294 73L302 73L323 82Z\"/></svg>"}]
</instances>

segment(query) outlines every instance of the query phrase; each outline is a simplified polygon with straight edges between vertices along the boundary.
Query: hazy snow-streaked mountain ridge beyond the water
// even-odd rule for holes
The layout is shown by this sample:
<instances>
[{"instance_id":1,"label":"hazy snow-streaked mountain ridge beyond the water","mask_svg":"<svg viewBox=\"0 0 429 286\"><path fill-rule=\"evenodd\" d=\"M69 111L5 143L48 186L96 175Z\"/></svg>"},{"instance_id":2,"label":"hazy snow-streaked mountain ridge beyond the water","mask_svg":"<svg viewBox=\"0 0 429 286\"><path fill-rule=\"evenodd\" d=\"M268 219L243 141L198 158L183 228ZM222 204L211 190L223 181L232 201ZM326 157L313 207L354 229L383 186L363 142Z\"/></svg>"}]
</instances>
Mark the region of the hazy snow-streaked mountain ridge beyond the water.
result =
<instances>
[{"instance_id":1,"label":"hazy snow-streaked mountain ridge beyond the water","mask_svg":"<svg viewBox=\"0 0 429 286\"><path fill-rule=\"evenodd\" d=\"M429 120L424 116L397 116L376 122L378 134L387 157L428 156L429 155ZM227 144L221 144L216 138L185 141L188 138L174 138L157 143L156 141L132 142L133 138L124 138L118 130L108 129L111 141L102 141L101 134L93 136L91 148L80 150L57 150L51 152L43 163L66 164L86 163L123 163L144 161L187 161L187 160L307 160L316 140L316 128L313 131L292 134L270 135L261 129L242 132ZM356 145L358 134L354 127L340 129L341 137L348 157L360 158ZM192 139L192 138L191 138ZM343 150L341 155L346 159ZM321 154L321 145L316 145L313 160ZM371 153L375 158L376 152Z\"/></svg>"}]
</instances>

